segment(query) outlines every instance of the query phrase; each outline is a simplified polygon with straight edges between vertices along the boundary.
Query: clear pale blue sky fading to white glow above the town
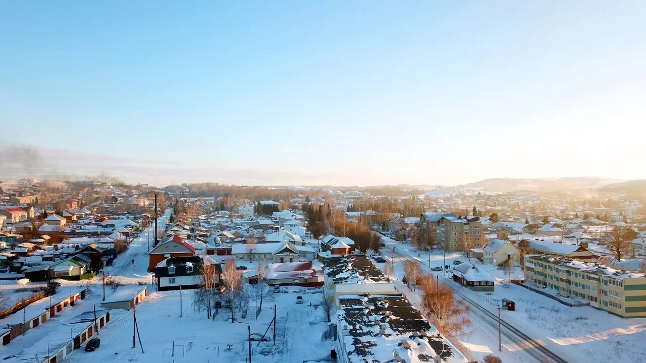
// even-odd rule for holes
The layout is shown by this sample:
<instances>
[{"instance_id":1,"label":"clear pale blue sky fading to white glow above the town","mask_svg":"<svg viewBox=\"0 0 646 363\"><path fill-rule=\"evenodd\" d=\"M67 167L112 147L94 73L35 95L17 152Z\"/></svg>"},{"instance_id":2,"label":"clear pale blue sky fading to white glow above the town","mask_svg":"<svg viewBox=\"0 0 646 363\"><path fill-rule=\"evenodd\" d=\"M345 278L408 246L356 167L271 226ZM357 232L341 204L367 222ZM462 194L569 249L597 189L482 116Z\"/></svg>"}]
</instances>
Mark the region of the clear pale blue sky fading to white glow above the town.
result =
<instances>
[{"instance_id":1,"label":"clear pale blue sky fading to white glow above the town","mask_svg":"<svg viewBox=\"0 0 646 363\"><path fill-rule=\"evenodd\" d=\"M0 5L0 178L646 179L643 1Z\"/></svg>"}]
</instances>

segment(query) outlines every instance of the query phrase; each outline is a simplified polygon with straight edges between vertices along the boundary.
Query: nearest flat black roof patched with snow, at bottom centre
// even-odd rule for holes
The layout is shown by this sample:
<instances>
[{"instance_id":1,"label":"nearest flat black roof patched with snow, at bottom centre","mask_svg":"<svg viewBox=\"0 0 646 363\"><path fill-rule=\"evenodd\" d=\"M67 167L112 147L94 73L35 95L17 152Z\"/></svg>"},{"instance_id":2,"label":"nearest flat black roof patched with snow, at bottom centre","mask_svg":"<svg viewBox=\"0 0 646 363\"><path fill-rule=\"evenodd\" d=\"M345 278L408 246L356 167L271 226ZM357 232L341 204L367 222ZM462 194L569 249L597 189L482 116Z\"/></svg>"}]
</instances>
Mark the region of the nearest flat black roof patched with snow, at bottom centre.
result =
<instances>
[{"instance_id":1,"label":"nearest flat black roof patched with snow, at bottom centre","mask_svg":"<svg viewBox=\"0 0 646 363\"><path fill-rule=\"evenodd\" d=\"M405 362L433 362L435 357L443 363L468 362L402 296L344 295L339 306L339 344L345 345L350 363L394 362L395 357Z\"/></svg>"}]
</instances>

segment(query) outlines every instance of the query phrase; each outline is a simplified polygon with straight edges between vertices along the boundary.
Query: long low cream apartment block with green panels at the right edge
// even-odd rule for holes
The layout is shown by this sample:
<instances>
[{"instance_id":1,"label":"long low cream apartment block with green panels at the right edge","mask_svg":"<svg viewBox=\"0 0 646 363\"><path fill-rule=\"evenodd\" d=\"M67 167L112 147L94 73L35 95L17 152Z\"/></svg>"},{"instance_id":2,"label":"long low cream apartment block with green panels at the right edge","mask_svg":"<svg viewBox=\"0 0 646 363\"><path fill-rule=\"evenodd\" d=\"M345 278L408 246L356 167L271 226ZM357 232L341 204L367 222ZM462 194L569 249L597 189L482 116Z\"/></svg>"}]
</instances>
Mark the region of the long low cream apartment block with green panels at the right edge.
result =
<instances>
[{"instance_id":1,"label":"long low cream apartment block with green panels at the right edge","mask_svg":"<svg viewBox=\"0 0 646 363\"><path fill-rule=\"evenodd\" d=\"M622 317L646 316L646 275L548 255L525 256L525 282Z\"/></svg>"}]
</instances>

